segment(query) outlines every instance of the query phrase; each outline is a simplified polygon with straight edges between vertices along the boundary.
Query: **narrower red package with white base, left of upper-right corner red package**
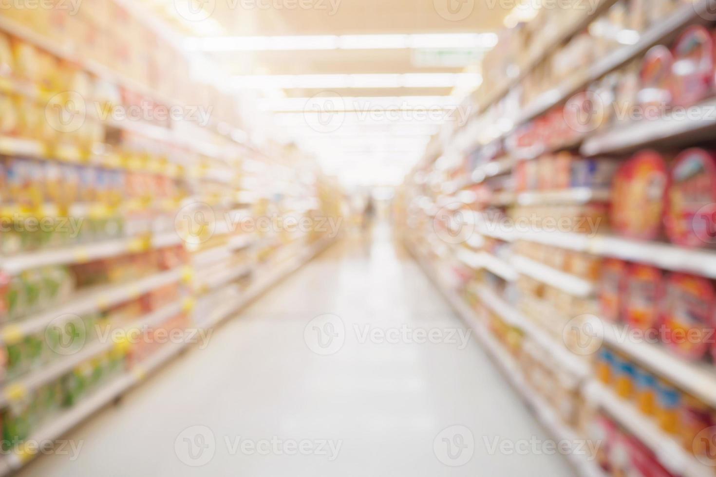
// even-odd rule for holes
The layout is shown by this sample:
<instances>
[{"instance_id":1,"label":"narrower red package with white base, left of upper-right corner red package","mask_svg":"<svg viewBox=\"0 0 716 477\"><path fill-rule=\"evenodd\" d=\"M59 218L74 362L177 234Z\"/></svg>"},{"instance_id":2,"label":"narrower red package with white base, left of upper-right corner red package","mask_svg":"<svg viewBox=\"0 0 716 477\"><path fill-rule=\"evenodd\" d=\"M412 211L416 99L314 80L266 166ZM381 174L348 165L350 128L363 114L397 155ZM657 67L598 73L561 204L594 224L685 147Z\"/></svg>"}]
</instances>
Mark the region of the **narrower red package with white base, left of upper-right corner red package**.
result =
<instances>
[{"instance_id":1,"label":"narrower red package with white base, left of upper-right corner red package","mask_svg":"<svg viewBox=\"0 0 716 477\"><path fill-rule=\"evenodd\" d=\"M672 102L672 65L674 58L666 46L657 45L647 52L642 66L642 89L637 95L645 119L658 119Z\"/></svg>"}]
</instances>

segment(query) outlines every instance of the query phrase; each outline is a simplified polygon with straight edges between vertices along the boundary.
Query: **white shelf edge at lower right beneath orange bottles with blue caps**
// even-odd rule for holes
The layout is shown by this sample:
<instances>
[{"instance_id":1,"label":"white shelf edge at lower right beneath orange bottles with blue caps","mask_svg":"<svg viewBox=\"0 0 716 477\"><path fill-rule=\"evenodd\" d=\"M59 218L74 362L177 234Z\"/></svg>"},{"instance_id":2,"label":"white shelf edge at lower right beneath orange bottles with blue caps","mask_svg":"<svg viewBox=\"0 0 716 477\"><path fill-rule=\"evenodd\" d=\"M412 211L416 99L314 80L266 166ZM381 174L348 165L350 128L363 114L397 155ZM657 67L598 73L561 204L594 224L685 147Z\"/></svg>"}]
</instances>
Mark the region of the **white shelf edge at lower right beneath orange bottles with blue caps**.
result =
<instances>
[{"instance_id":1,"label":"white shelf edge at lower right beneath orange bottles with blue caps","mask_svg":"<svg viewBox=\"0 0 716 477\"><path fill-rule=\"evenodd\" d=\"M677 476L713 477L713 468L702 465L659 426L626 400L622 400L601 383L592 381L584 388L586 398L606 410L645 446L650 448L664 467Z\"/></svg>"}]
</instances>

